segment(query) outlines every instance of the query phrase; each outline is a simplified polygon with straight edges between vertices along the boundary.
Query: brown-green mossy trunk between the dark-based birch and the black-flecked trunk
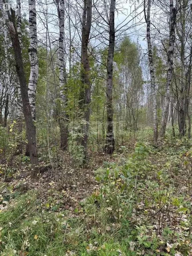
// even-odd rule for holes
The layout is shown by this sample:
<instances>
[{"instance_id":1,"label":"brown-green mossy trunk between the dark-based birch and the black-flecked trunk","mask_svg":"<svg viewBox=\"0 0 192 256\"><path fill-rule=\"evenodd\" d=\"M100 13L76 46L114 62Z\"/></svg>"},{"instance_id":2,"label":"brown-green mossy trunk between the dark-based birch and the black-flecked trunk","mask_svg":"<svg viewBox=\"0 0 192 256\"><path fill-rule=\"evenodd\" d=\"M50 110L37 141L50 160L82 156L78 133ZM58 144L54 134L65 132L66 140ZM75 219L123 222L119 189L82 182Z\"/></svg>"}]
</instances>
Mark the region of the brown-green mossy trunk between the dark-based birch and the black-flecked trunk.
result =
<instances>
[{"instance_id":1,"label":"brown-green mossy trunk between the dark-based birch and the black-flecked trunk","mask_svg":"<svg viewBox=\"0 0 192 256\"><path fill-rule=\"evenodd\" d=\"M83 19L82 19L82 39L81 39L81 82L82 89L80 97L82 98L81 106L84 112L82 125L83 138L81 145L84 147L84 158L87 157L87 141L89 131L89 118L91 114L91 82L90 82L90 65L88 57L88 43L92 22L92 0L84 1Z\"/></svg>"}]
</instances>

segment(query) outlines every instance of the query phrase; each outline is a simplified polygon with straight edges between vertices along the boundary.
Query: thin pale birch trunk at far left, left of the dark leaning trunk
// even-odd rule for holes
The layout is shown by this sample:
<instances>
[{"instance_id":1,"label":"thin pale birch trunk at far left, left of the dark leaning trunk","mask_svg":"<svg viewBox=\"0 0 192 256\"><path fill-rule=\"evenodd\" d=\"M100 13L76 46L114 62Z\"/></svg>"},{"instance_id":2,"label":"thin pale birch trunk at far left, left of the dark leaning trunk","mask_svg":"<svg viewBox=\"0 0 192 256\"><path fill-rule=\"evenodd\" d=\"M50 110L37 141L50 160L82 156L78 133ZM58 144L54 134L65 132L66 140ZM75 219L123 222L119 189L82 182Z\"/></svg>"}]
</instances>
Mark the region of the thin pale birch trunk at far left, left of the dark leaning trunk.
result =
<instances>
[{"instance_id":1,"label":"thin pale birch trunk at far left, left of the dark leaning trunk","mask_svg":"<svg viewBox=\"0 0 192 256\"><path fill-rule=\"evenodd\" d=\"M6 78L7 78L7 91L8 91L8 108L9 108L9 118L10 123L13 122L13 116L12 116L12 102L11 102L11 83L10 83L10 76L9 76L9 61L8 61L8 55L7 55L7 26L5 22L5 11L3 11L3 26L4 26L4 51L5 51L5 63L6 63Z\"/></svg>"}]
</instances>

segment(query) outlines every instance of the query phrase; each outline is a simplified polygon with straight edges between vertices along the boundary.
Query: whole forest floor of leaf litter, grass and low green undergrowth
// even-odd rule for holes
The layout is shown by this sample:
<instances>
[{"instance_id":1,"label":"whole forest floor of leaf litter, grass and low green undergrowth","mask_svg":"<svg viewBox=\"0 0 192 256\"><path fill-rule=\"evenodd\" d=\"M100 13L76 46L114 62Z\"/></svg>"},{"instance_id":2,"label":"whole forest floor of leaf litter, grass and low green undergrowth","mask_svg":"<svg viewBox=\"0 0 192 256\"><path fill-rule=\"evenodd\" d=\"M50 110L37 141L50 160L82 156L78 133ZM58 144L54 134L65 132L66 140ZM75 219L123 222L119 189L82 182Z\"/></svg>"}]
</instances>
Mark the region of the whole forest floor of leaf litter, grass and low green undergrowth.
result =
<instances>
[{"instance_id":1,"label":"whole forest floor of leaf litter, grass and low green undergrowth","mask_svg":"<svg viewBox=\"0 0 192 256\"><path fill-rule=\"evenodd\" d=\"M192 140L149 140L95 154L60 153L31 180L19 156L0 180L2 256L192 255Z\"/></svg>"}]
</instances>

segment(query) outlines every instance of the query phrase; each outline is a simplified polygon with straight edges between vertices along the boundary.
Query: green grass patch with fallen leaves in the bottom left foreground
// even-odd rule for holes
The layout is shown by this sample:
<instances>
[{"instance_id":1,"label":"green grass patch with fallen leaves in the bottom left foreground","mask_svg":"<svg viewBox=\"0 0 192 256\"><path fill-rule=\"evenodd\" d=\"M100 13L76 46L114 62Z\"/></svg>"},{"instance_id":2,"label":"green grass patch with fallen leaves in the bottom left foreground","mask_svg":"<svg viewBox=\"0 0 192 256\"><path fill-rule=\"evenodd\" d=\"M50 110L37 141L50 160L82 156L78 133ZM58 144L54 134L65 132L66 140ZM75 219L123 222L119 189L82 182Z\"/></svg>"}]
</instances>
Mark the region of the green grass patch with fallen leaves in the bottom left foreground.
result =
<instances>
[{"instance_id":1,"label":"green grass patch with fallen leaves in the bottom left foreground","mask_svg":"<svg viewBox=\"0 0 192 256\"><path fill-rule=\"evenodd\" d=\"M119 255L118 250L122 246L118 242L117 231L114 231L112 236L107 232L99 234L96 227L87 230L83 219L79 221L79 219L67 218L66 220L64 213L43 212L42 216L37 211L36 195L36 191L29 191L15 199L10 209L0 213L2 256L59 256L68 253L69 255ZM94 250L95 248L97 250ZM75 254L77 251L78 254Z\"/></svg>"}]
</instances>

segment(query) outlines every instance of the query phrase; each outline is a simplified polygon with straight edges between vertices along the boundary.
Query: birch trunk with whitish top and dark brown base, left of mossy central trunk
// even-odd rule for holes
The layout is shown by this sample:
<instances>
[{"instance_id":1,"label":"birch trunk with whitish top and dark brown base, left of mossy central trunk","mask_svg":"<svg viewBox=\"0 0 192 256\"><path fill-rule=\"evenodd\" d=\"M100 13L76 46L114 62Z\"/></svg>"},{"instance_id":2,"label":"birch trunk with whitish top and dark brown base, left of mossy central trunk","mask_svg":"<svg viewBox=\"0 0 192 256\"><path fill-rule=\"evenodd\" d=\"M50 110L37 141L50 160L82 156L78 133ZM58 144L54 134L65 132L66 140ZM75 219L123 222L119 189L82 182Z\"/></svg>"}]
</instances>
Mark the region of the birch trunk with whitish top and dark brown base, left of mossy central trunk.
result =
<instances>
[{"instance_id":1,"label":"birch trunk with whitish top and dark brown base, left of mossy central trunk","mask_svg":"<svg viewBox=\"0 0 192 256\"><path fill-rule=\"evenodd\" d=\"M64 62L64 0L57 0L57 13L59 17L59 85L60 85L60 109L59 109L59 126L60 126L60 137L61 137L61 149L65 150L67 148L67 137L68 137L68 127L67 127L67 116L66 116L66 85L67 77L65 71Z\"/></svg>"}]
</instances>

